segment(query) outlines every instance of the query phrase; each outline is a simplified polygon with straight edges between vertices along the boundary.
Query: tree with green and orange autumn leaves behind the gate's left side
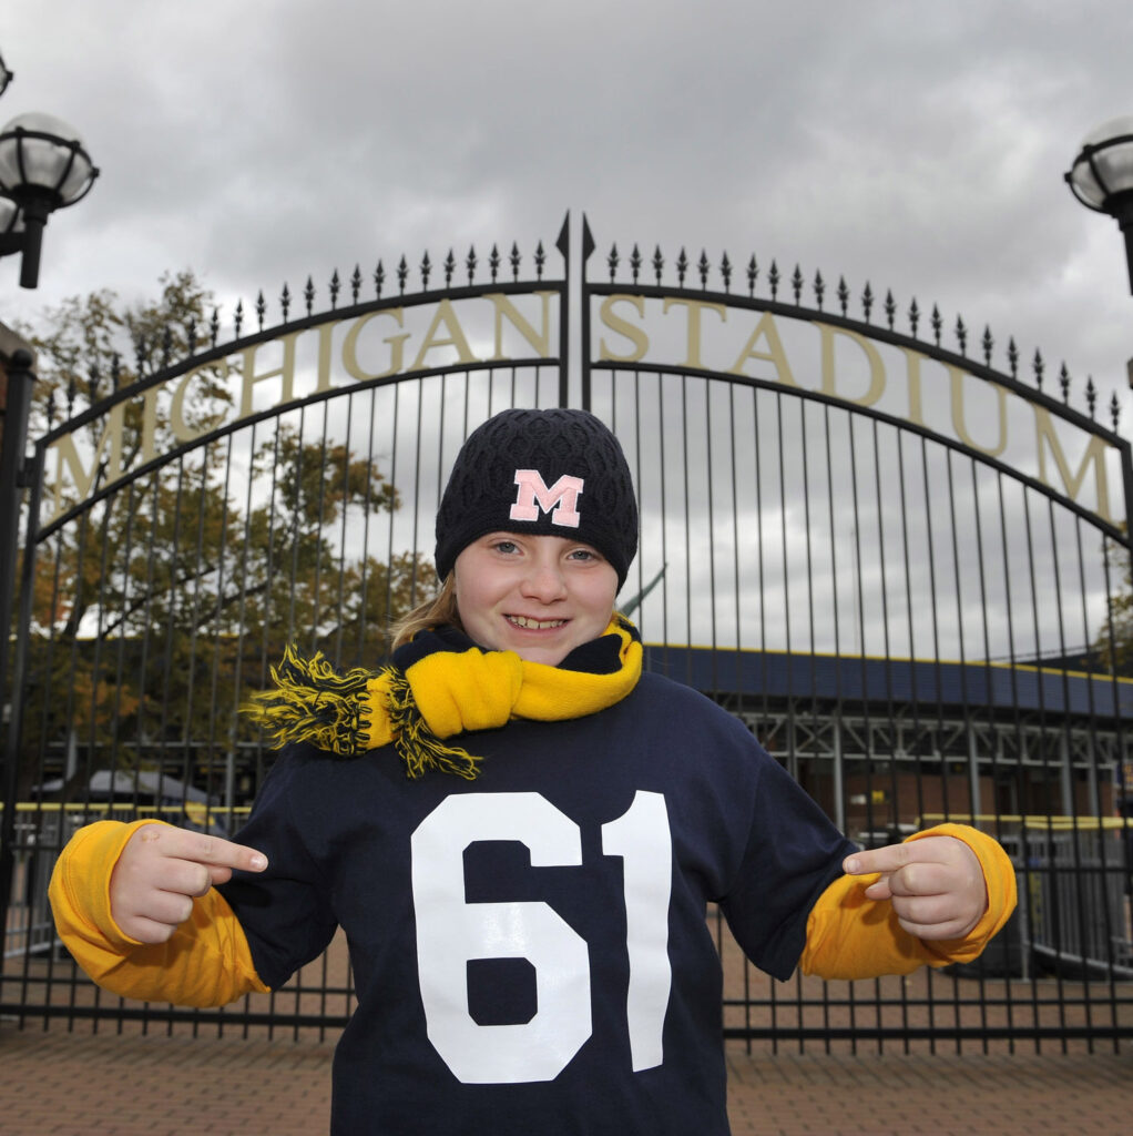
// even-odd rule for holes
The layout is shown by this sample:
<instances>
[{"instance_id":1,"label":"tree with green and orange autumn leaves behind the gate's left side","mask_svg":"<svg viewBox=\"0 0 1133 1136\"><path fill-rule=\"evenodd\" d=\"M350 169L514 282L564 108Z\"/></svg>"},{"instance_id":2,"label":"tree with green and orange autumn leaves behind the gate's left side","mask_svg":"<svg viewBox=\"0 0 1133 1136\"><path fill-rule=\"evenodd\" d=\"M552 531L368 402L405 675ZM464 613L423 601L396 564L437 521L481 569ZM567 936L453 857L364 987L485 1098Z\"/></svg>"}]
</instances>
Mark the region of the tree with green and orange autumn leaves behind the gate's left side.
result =
<instances>
[{"instance_id":1,"label":"tree with green and orange autumn leaves behind the gate's left side","mask_svg":"<svg viewBox=\"0 0 1133 1136\"><path fill-rule=\"evenodd\" d=\"M33 437L60 412L73 418L192 354L210 307L192 273L165 277L144 303L108 292L65 301L30 336ZM213 788L218 761L230 768L233 754L257 750L238 708L286 643L374 666L386 626L431 571L414 551L378 558L342 537L347 515L364 528L400 507L377 460L284 419L250 433L242 459L232 436L208 436L234 401L227 368L205 368L193 391L183 414L200 444L158 425L152 448L168 460L114 492L98 494L104 460L89 503L48 486L76 511L36 558L23 793L58 771L77 791L109 767L160 768ZM141 465L143 415L141 399L126 403L123 469ZM99 428L84 428L87 452Z\"/></svg>"}]
</instances>

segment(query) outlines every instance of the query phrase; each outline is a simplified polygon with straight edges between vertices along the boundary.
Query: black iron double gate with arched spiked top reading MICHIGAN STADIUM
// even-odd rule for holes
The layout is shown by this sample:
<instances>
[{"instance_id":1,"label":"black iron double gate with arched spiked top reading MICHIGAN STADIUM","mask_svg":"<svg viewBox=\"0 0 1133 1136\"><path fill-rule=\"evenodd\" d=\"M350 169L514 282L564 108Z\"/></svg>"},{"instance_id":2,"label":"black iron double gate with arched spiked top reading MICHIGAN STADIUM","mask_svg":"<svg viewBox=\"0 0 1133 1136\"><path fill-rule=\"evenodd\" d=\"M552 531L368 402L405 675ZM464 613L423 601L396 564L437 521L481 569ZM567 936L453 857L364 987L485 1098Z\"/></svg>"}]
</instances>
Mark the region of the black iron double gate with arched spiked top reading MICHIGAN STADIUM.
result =
<instances>
[{"instance_id":1,"label":"black iron double gate with arched spiked top reading MICHIGAN STADIUM","mask_svg":"<svg viewBox=\"0 0 1133 1136\"><path fill-rule=\"evenodd\" d=\"M85 375L89 398L72 389L26 462L6 443L2 500L20 485L27 500L0 1012L345 1022L338 943L223 1011L101 994L56 944L54 855L101 817L238 827L271 754L237 708L284 643L372 666L388 620L435 586L420 550L467 433L505 406L581 404L637 481L641 551L620 600L648 666L741 717L861 843L970 820L1019 870L1019 913L945 975L778 985L721 932L729 1034L1130 1036L1133 475L1116 395L1102 425L1092 382L1080 412L1065 368L1052 396L1041 357L1021 367L1012 343L996 370L990 332L971 358L963 321L949 349L915 301L899 315L866 285L858 318L821 275L660 249L598 260L581 229L572 257L564 224L553 278L542 245L402 258L372 283L336 275L329 311L310 284L302 301L284 289L275 327L262 296L254 316L237 307L228 342L216 316L167 328Z\"/></svg>"}]
</instances>

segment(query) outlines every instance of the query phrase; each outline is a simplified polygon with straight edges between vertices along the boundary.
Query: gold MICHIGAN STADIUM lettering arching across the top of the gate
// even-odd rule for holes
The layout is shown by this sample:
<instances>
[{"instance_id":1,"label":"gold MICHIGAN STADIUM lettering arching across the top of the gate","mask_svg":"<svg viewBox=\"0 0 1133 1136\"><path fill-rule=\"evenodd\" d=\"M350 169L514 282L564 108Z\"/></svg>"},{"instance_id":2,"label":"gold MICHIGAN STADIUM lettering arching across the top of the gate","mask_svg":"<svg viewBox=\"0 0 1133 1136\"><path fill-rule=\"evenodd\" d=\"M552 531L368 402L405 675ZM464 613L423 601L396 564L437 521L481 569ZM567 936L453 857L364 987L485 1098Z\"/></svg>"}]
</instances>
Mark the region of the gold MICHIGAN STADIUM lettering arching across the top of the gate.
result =
<instances>
[{"instance_id":1,"label":"gold MICHIGAN STADIUM lettering arching across the top of the gate","mask_svg":"<svg viewBox=\"0 0 1133 1136\"><path fill-rule=\"evenodd\" d=\"M557 292L544 290L532 292L530 295L538 296L540 303L538 315L534 319L528 318L530 309L524 311L520 308L511 294L500 292L481 296L492 304L493 317L492 354L485 361L501 362L509 358L505 353L505 339L509 334L518 335L540 358L551 357L554 324L551 300ZM651 308L651 304L657 307ZM673 308L685 309L685 319L680 321L683 327L671 329L678 333L675 337L673 335L662 337L660 342L664 345L657 345L656 341L651 340L648 317L652 311L653 318L656 319L658 307L661 315L666 315ZM723 350L727 352L723 358L725 360L731 358L735 361L729 369L720 373L722 375L770 381L780 386L803 390L797 376L816 373L817 386L812 381L811 389L819 390L822 394L848 407L873 407L886 396L886 362L879 353L878 344L866 334L821 320L791 320L790 317L784 317L789 324L797 327L817 329L817 358L813 356L806 358L804 354L804 359L800 360L797 357L799 352L797 340L788 337L784 342L782 325L777 321L777 316L770 311L762 311L756 314L754 327L749 323L746 325L750 331L746 332L742 345L738 353L733 354L738 336L728 335L733 326L729 325L729 306L723 302L686 296L658 295L653 301L629 293L605 295L601 302L599 323L607 334L598 336L597 358L607 364L635 364L649 359L655 365L707 370L705 358L707 357L710 362L713 359L719 360ZM748 309L735 310L742 310L745 318L747 317ZM717 318L706 320L706 311ZM99 487L121 478L128 471L124 468L126 462L133 466L134 462L145 463L159 459L161 456L159 450L165 444L162 441L165 437L171 435L178 443L191 443L219 427L225 420L225 411L213 414L200 424L186 419L185 400L194 398L196 385L202 381L208 382L211 377L217 383L227 379L233 387L238 384L238 409L234 414L237 421L257 412L257 401L261 406L284 406L294 401L296 368L300 367L296 344L300 335L309 331L316 332L318 340L310 344L310 349L307 349L303 356L304 362L300 376L305 377L308 382L308 389L302 392L304 394L310 394L312 384L316 393L330 391L334 386L336 364L350 378L356 382L372 382L425 369L427 361L436 365L430 353L443 349L448 349L448 352L464 365L481 361L470 346L453 301L440 299L433 307L431 314L428 309L422 312L422 317L425 316L429 318L428 328L420 341L416 358L408 368L406 344L412 333L405 331L405 309L398 306L366 312L351 320L344 328L342 328L343 320L327 319L313 327L293 331L276 340L243 348L227 359L221 358L191 368L161 385L148 387L134 398L133 403L119 403L107 412L93 452L90 445L81 443L70 435L64 435L53 443L57 450L57 477L53 487L56 516L59 516L64 508L69 508L75 500L82 501ZM362 336L368 329L377 332L380 325L375 321L381 318L388 319L394 328L391 334L380 337L380 343L388 350L388 354L381 358L379 350L376 364L370 359L363 364L360 356L366 357L367 351L362 346ZM344 337L341 351L336 352L335 333L338 328L344 332ZM679 334L680 331L685 333L683 339ZM265 354L269 344L278 356ZM857 381L857 390L846 390L851 382L846 364L855 361L842 353L847 344L856 346L861 352L861 359L857 361L865 364L864 390L861 389L861 379ZM982 409L982 400L987 395L981 390L981 410L976 414L971 406L976 389L968 391L966 387L968 383L987 383L987 379L971 376L960 364L935 359L904 344L893 346L905 357L907 408L883 403L882 408L887 412L903 417L909 424L931 432L943 441L949 437L957 440L980 454L1009 461L1021 471L1035 473L1038 481L1071 501L1076 501L1084 491L1088 491L1090 488L1088 482L1091 482L1097 502L1092 511L1107 521L1114 521L1107 469L1113 446L1105 438L1091 435L1088 431L1075 431L1075 435L1085 433L1088 442L1080 458L1068 458L1063 438L1069 435L1065 431L1061 434L1056 432L1058 423L1050 411L1030 403L1035 416L1033 434L1035 449L1032 451L1027 444L1025 452L1019 453L1019 444L1009 446L1008 415L1014 404L1008 404L1007 395L1012 393L1008 387L990 383L994 399L994 409L990 412ZM669 362L669 359L680 358L682 351L683 359L680 362ZM850 356L853 353L850 350ZM268 362L268 359L272 358L274 366ZM938 364L942 370L928 371L923 366L925 359ZM384 369L376 369L376 365ZM762 365L762 369L756 365ZM749 369L756 374L749 374ZM773 373L770 376L769 370ZM862 374L861 369L857 374ZM262 384L277 385L265 387ZM271 396L265 398L268 392ZM1024 399L1024 394L1018 395L1018 400ZM948 403L947 408L945 400ZM165 414L163 420L162 414ZM994 415L998 415L998 421L991 421ZM931 419L937 421L933 423ZM93 431L98 427L95 425L87 428ZM1072 423L1067 424L1067 431L1071 428L1073 428ZM163 431L168 431L168 434ZM1072 466L1072 460L1076 460L1077 465Z\"/></svg>"}]
</instances>

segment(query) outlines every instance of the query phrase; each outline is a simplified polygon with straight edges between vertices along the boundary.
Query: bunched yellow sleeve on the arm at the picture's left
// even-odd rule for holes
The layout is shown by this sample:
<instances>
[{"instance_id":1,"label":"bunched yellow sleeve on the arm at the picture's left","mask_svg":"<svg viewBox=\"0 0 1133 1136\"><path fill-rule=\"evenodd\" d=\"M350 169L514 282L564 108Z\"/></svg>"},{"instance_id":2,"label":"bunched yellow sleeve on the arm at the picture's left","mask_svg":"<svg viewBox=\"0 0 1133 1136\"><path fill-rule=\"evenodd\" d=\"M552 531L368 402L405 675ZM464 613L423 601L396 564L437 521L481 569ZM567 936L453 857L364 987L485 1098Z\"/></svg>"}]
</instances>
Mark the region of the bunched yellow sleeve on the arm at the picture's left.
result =
<instances>
[{"instance_id":1,"label":"bunched yellow sleeve on the arm at the picture's left","mask_svg":"<svg viewBox=\"0 0 1133 1136\"><path fill-rule=\"evenodd\" d=\"M131 938L110 914L110 876L142 820L100 820L81 828L62 850L48 896L56 928L75 961L100 986L123 997L178 1005L224 1005L260 982L240 920L211 888L166 943Z\"/></svg>"}]
</instances>

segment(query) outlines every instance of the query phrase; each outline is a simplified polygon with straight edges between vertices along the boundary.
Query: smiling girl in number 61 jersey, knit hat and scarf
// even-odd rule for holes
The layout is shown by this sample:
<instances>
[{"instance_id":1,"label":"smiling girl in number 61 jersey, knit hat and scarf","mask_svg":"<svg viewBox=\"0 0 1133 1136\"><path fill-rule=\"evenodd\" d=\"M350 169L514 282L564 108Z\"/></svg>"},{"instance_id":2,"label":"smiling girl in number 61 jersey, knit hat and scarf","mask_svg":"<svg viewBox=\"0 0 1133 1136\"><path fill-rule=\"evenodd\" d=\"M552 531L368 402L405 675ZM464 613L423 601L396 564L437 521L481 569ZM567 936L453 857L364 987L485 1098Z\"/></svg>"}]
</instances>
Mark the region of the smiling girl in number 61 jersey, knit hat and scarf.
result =
<instances>
[{"instance_id":1,"label":"smiling girl in number 61 jersey, knit hat and scarf","mask_svg":"<svg viewBox=\"0 0 1133 1136\"><path fill-rule=\"evenodd\" d=\"M1004 925L994 841L945 825L858 852L736 718L643 674L614 612L637 507L598 419L492 418L436 538L444 586L392 667L288 652L257 699L286 744L240 843L76 834L51 896L96 982L223 1004L342 926L334 1133L724 1134L708 902L780 979L968 961Z\"/></svg>"}]
</instances>

